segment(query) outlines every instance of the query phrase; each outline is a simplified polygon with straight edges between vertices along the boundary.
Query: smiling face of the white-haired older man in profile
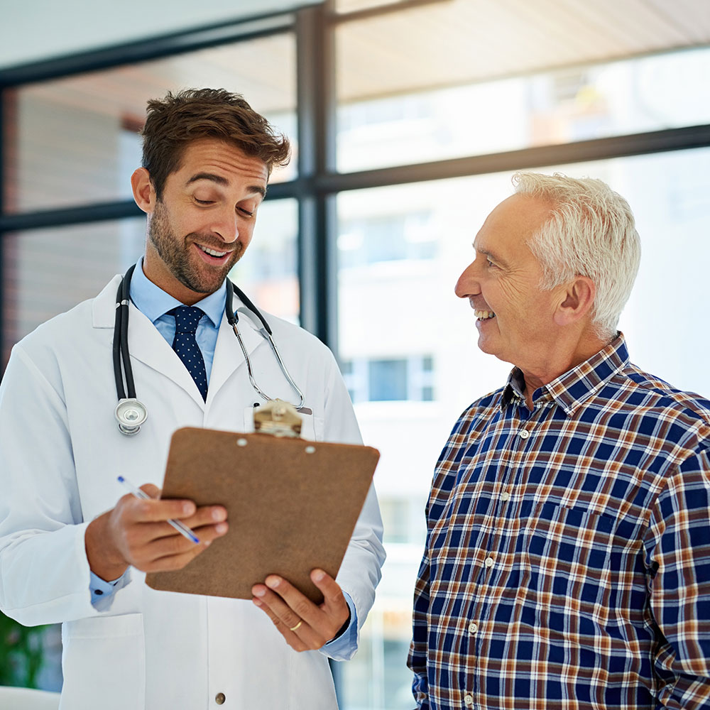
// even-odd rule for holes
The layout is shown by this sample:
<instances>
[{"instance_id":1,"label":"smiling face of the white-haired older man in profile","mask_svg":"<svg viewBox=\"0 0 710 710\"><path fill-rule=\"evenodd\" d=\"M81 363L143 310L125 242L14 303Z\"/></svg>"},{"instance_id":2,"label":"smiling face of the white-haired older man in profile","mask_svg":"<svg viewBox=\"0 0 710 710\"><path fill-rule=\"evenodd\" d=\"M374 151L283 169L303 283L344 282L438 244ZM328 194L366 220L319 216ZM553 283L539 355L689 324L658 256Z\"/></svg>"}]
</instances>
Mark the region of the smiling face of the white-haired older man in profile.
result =
<instances>
[{"instance_id":1,"label":"smiling face of the white-haired older man in profile","mask_svg":"<svg viewBox=\"0 0 710 710\"><path fill-rule=\"evenodd\" d=\"M479 348L534 372L555 342L555 290L540 289L542 269L527 244L550 204L513 195L488 215L474 241L476 258L456 294L476 315Z\"/></svg>"}]
</instances>

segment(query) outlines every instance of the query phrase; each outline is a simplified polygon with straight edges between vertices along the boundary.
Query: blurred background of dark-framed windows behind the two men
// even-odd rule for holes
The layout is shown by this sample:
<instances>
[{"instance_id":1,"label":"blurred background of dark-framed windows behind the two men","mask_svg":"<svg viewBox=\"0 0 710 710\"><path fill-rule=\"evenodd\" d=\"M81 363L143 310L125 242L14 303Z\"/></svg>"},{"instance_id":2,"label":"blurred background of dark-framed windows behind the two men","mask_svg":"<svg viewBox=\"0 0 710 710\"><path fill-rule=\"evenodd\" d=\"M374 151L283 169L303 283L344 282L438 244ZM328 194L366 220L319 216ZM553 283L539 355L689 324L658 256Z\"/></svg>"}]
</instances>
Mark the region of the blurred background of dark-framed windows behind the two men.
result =
<instances>
[{"instance_id":1,"label":"blurred background of dark-framed windows behind the two men","mask_svg":"<svg viewBox=\"0 0 710 710\"><path fill-rule=\"evenodd\" d=\"M706 0L4 2L0 366L140 255L146 99L243 92L295 149L232 278L334 349L382 452L388 560L361 650L336 667L342 707L408 708L433 466L509 368L476 349L453 293L476 231L515 170L609 182L643 241L631 357L709 395L709 76ZM38 683L58 688L56 629L43 643Z\"/></svg>"}]
</instances>

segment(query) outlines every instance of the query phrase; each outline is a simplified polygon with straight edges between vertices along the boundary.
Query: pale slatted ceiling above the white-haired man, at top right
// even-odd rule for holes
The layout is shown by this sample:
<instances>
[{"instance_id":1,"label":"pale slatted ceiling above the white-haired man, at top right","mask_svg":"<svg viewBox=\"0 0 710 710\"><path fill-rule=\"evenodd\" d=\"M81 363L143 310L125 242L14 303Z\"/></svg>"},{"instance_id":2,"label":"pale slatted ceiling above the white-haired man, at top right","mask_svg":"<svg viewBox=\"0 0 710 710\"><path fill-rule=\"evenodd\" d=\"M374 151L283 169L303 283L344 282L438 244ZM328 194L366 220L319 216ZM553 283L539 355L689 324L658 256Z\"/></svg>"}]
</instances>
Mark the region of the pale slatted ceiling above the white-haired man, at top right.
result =
<instances>
[{"instance_id":1,"label":"pale slatted ceiling above the white-haired man, at top right","mask_svg":"<svg viewBox=\"0 0 710 710\"><path fill-rule=\"evenodd\" d=\"M438 0L337 38L349 100L710 45L710 0Z\"/></svg>"}]
</instances>

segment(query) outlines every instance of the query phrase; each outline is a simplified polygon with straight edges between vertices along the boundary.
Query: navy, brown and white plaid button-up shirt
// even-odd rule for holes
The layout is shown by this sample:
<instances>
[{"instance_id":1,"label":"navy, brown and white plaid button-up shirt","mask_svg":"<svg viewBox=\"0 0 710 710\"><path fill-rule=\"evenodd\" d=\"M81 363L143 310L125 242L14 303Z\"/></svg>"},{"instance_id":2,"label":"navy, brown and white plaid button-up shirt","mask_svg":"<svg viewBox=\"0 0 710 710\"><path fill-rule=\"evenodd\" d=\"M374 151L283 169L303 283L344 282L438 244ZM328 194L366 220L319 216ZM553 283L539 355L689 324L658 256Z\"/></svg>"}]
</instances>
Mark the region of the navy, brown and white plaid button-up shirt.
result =
<instances>
[{"instance_id":1,"label":"navy, brown and white plaid button-up shirt","mask_svg":"<svg viewBox=\"0 0 710 710\"><path fill-rule=\"evenodd\" d=\"M623 336L475 402L439 458L408 665L422 709L710 709L710 402Z\"/></svg>"}]
</instances>

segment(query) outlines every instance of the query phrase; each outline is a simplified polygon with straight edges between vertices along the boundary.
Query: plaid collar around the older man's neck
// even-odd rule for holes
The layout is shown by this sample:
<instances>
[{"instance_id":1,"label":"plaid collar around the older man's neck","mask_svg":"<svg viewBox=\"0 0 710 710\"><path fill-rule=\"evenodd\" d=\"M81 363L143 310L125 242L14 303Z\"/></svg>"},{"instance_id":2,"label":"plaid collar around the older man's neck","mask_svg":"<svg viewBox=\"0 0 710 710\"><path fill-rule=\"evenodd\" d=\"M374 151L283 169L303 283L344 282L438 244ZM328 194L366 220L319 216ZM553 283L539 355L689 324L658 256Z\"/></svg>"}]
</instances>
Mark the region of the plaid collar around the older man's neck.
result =
<instances>
[{"instance_id":1,"label":"plaid collar around the older man's neck","mask_svg":"<svg viewBox=\"0 0 710 710\"><path fill-rule=\"evenodd\" d=\"M579 405L598 392L618 371L628 365L628 349L623 333L616 334L605 348L579 365L568 370L532 393L532 403L544 403L554 400L562 407L567 416L571 416ZM525 379L520 368L513 368L508 376L501 407L513 399L524 400Z\"/></svg>"}]
</instances>

